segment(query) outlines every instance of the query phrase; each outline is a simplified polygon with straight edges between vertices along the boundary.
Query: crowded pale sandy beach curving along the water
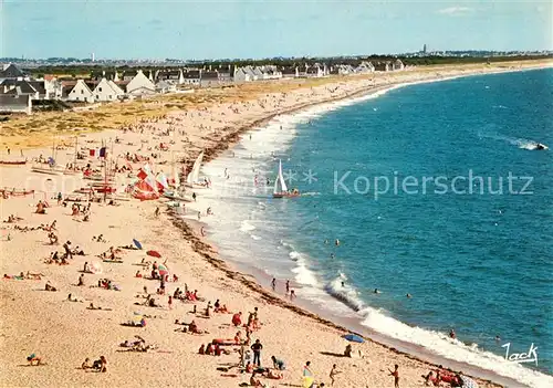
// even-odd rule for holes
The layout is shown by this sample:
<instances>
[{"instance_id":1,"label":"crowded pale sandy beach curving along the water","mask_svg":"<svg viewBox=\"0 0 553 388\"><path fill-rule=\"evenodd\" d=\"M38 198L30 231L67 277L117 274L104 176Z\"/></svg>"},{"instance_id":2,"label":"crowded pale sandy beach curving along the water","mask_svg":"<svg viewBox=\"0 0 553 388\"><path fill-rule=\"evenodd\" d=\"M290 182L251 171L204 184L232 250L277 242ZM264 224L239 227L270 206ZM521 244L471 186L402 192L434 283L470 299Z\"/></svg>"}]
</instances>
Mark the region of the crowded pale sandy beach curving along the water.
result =
<instances>
[{"instance_id":1,"label":"crowded pale sandy beach curving along the water","mask_svg":"<svg viewBox=\"0 0 553 388\"><path fill-rule=\"evenodd\" d=\"M243 85L199 91L194 93L196 104L188 104L185 108L169 105L175 105L176 98L190 96L133 103L148 106L148 116L126 117L108 130L87 132L85 124L80 124L84 130L62 130L54 137L54 129L44 133L19 130L12 136L7 134L7 127L2 128L2 160L15 160L20 155L29 160L49 157L55 141L59 164L75 161L76 144L85 155L76 160L76 165L82 168L91 164L101 170L102 162L90 156L88 148L96 149L104 144L113 165L132 169L116 174L115 186L121 195L114 199L114 205L108 205L102 195L97 196L98 202L87 202L86 196L73 193L75 189L86 187L87 181L82 175L32 172L30 161L24 166L0 166L0 188L9 188L1 199L2 221L11 214L21 218L2 222L0 241L0 272L9 277L4 276L0 282L0 374L4 386L238 387L249 384L252 374L241 373L238 368L239 345L221 346L228 354L218 357L200 355L198 349L216 338L234 343L237 332L246 338L246 328L236 327L231 321L234 313L241 312L242 324L246 324L249 313L255 307L259 325L254 325L258 327L251 333L249 345L257 339L261 342L262 367L273 366L271 356L285 363L281 379L255 376L268 387L303 387L306 361L311 361L314 381L324 382L326 387L331 386L330 373L334 364L341 371L335 377L335 387L393 387L394 377L389 369L396 364L400 387L424 386L421 376L436 370L435 365L369 338L363 344L349 343L342 337L348 333L345 328L294 305L286 297L282 282L279 281L275 291L263 289L252 275L238 272L220 258L217 248L202 238L201 220L195 221L190 216L201 212L202 217L208 217L201 202L201 190L197 191L197 202L186 203L189 217L185 221L168 210L165 200L139 201L125 195L123 188L136 177L147 158L156 172L170 175L171 161L178 161L178 169L185 166L189 170L201 150L205 150L205 161L211 160L236 144L247 130L262 126L275 115L316 103L374 93L401 83L542 66L551 66L551 63L445 66L324 82ZM105 108L111 109L105 115L116 111L118 105L124 107L123 104L113 104ZM156 107L158 114L155 114ZM83 123L94 112L79 113ZM46 119L60 119L52 115L45 115ZM23 118L27 126L33 119L44 118ZM161 143L167 149L159 148ZM7 155L8 148L10 155ZM133 155L142 160L133 160ZM12 188L34 192L11 196ZM64 199L80 197L79 203L90 203L88 216L83 212L72 216L73 202L63 206L56 200L58 192L62 192ZM49 203L45 214L35 212L39 200ZM156 214L156 208L159 208L159 214ZM49 230L48 226L54 221L54 228ZM41 226L46 227L39 228ZM22 230L24 228L29 230ZM55 234L56 244L50 243L49 233ZM100 234L103 238L95 241ZM140 242L142 250L121 248L114 253L121 260L104 261L100 256L111 247L133 247L133 239ZM66 265L46 263L52 252L62 255L63 244L67 241L71 241L72 250L79 247L76 251L84 251L84 255L75 254L66 260ZM150 250L158 252L160 258L148 255ZM144 262L149 264L142 265ZM160 287L159 280L147 279L155 262L165 263L170 274L164 295L156 292ZM92 273L84 271L85 263L93 269ZM136 276L138 271L140 277ZM18 279L20 273L23 273L22 280ZM77 285L81 275L84 285ZM112 290L98 286L103 279L111 281ZM56 291L45 291L46 282ZM113 290L114 285L117 290ZM169 304L169 295L173 296L177 287L197 290L201 301L173 300ZM76 302L70 301L69 294ZM147 295L155 298L158 306L144 305ZM210 308L207 317L208 303L213 305L216 301L226 305L229 312ZM91 310L91 303L102 308ZM144 317L144 327L122 325L136 322L137 316ZM208 333L184 333L182 328L188 325L176 324L177 319L187 324L195 321L199 331ZM153 348L131 352L131 347L121 346L125 340L137 340L135 336L144 338L145 344L153 345ZM348 344L354 357L344 357ZM137 347L144 348L144 343ZM40 357L44 365L29 366L27 357L31 354ZM101 356L107 360L105 373L81 367L85 358L90 358L92 365ZM500 386L481 377L474 376L480 387Z\"/></svg>"}]
</instances>

